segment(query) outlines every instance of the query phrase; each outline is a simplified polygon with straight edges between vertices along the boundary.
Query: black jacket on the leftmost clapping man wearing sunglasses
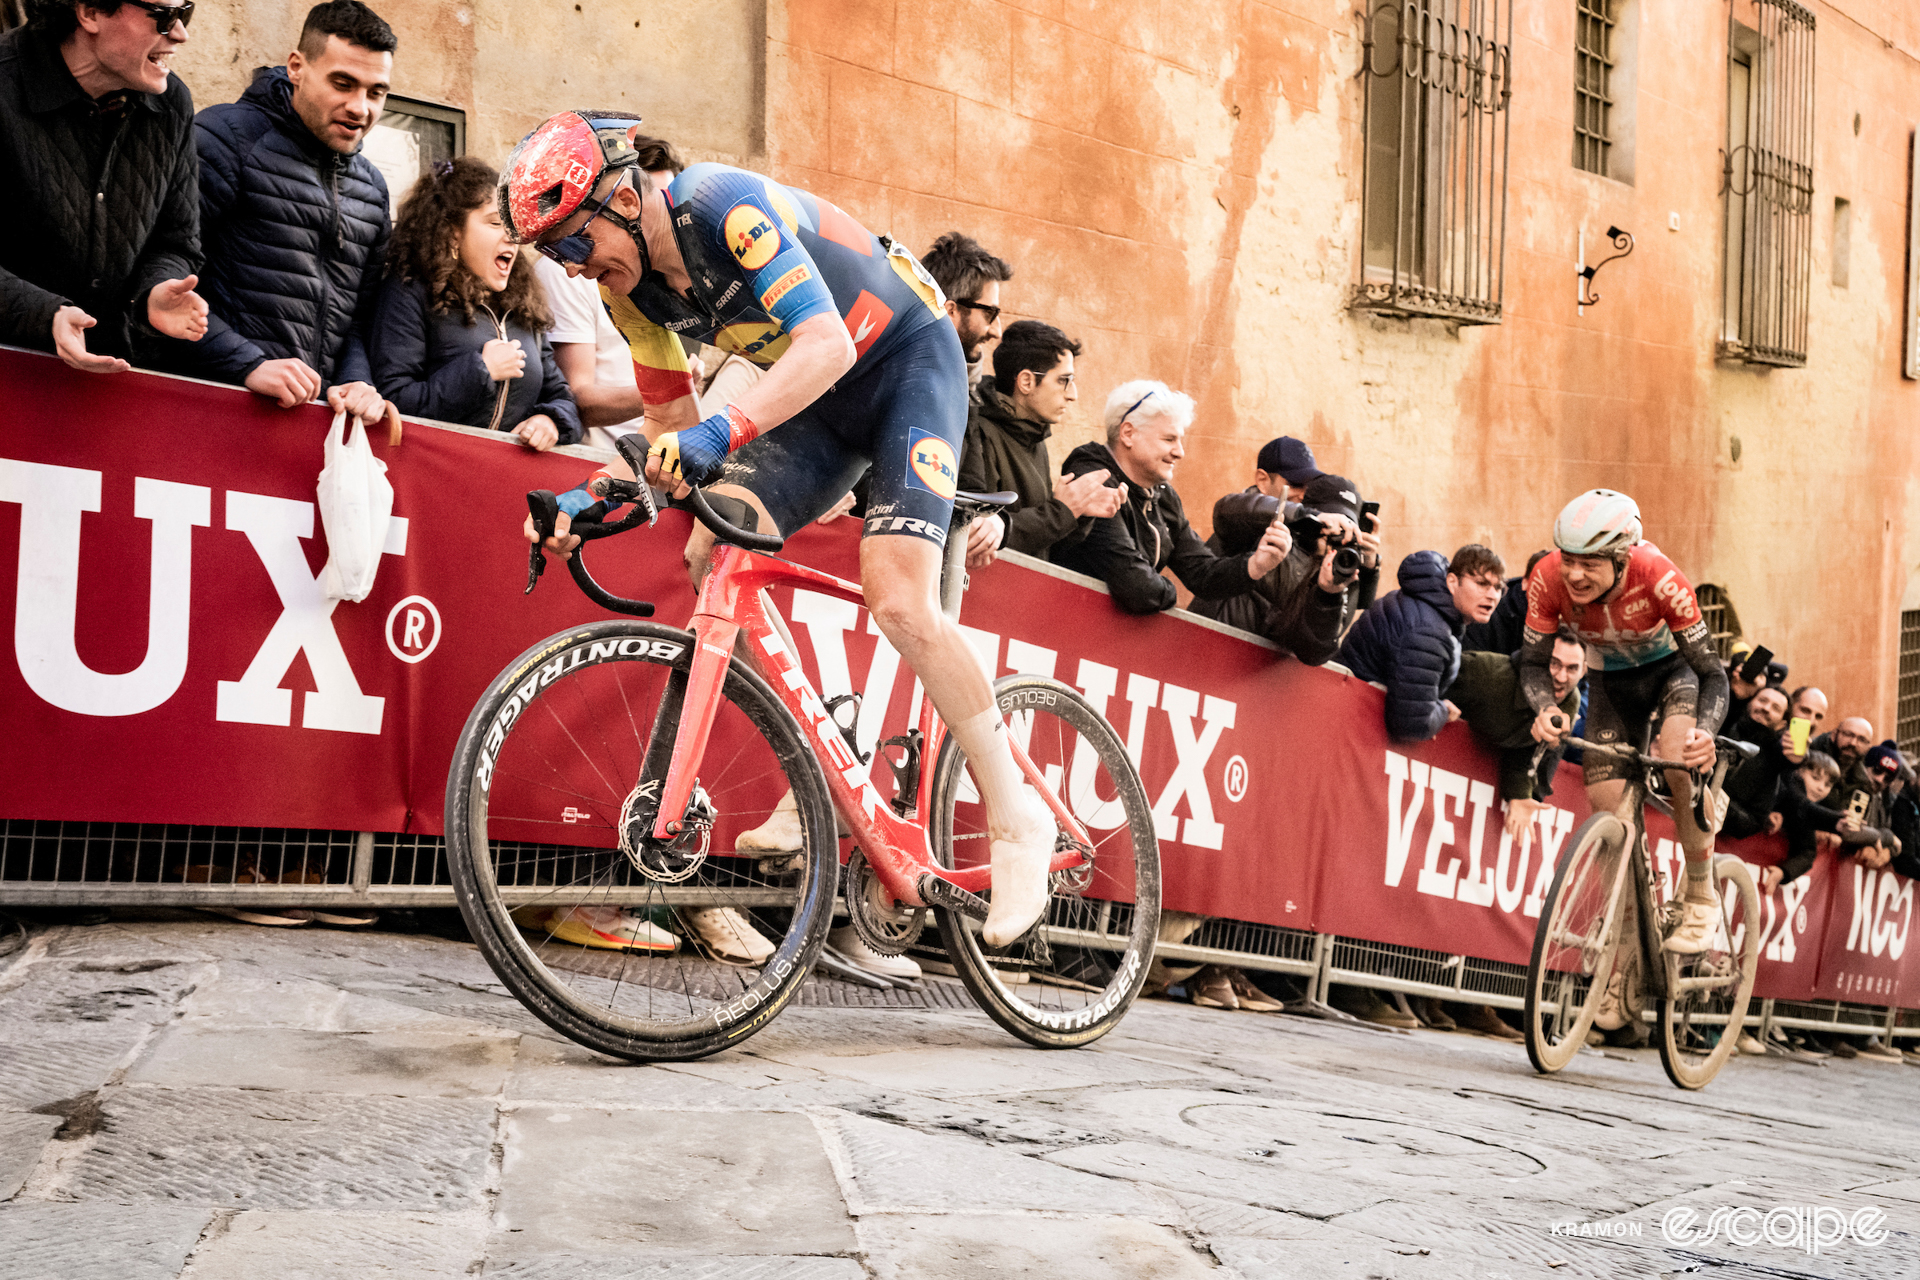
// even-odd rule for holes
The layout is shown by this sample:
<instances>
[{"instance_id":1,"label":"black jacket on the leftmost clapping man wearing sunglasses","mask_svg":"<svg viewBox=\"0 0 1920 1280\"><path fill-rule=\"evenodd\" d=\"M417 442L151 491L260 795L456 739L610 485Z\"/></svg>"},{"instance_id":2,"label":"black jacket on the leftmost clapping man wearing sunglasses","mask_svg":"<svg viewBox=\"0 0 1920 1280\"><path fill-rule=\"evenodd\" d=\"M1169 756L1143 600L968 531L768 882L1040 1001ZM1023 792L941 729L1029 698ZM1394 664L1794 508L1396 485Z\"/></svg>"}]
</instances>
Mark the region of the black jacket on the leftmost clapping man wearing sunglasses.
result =
<instances>
[{"instance_id":1,"label":"black jacket on the leftmost clapping man wearing sunglasses","mask_svg":"<svg viewBox=\"0 0 1920 1280\"><path fill-rule=\"evenodd\" d=\"M0 342L52 351L63 305L98 320L96 355L157 342L146 296L200 269L192 123L177 75L96 104L56 40L0 35Z\"/></svg>"}]
</instances>

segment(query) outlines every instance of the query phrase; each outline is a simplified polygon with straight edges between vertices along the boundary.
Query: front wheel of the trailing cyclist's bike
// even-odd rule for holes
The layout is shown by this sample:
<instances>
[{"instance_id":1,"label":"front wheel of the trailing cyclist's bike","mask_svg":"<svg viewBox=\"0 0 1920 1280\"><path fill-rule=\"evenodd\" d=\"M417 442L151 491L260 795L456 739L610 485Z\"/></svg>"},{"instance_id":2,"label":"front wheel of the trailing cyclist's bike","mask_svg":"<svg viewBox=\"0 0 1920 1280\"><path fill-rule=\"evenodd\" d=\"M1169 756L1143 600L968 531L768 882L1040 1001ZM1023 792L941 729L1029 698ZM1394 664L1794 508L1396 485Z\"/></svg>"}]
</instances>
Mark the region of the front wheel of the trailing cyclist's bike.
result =
<instances>
[{"instance_id":1,"label":"front wheel of the trailing cyclist's bike","mask_svg":"<svg viewBox=\"0 0 1920 1280\"><path fill-rule=\"evenodd\" d=\"M1526 965L1526 1057L1534 1071L1572 1061L1594 1025L1620 952L1628 831L1594 814L1561 860Z\"/></svg>"}]
</instances>

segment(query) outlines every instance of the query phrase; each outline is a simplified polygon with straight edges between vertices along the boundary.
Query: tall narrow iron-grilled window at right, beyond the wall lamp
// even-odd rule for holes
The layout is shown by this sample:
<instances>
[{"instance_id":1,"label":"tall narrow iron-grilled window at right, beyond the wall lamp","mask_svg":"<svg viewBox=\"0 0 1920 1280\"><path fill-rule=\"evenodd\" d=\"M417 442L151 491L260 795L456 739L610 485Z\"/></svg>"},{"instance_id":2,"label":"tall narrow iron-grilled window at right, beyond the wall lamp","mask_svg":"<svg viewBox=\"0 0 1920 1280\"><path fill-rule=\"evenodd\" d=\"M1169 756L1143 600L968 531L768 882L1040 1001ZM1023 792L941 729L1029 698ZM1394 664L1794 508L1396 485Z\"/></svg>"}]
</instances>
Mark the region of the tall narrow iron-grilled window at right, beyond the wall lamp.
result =
<instances>
[{"instance_id":1,"label":"tall narrow iron-grilled window at right, beyond the wall lamp","mask_svg":"<svg viewBox=\"0 0 1920 1280\"><path fill-rule=\"evenodd\" d=\"M1812 12L1755 0L1732 25L1726 75L1726 290L1720 355L1807 363L1812 282Z\"/></svg>"}]
</instances>

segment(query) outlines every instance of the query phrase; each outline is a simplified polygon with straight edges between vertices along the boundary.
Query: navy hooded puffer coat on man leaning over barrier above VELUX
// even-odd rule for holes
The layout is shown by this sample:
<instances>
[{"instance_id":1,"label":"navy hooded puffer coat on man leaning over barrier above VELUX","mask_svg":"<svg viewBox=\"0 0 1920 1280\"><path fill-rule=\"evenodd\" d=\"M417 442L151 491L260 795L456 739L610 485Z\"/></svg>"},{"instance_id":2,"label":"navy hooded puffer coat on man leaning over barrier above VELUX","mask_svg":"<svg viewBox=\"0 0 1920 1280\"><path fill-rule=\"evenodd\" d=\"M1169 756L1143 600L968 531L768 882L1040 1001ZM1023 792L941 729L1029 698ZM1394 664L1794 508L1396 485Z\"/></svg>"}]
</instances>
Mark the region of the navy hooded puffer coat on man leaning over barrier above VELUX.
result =
<instances>
[{"instance_id":1,"label":"navy hooded puffer coat on man leaning over barrier above VELUX","mask_svg":"<svg viewBox=\"0 0 1920 1280\"><path fill-rule=\"evenodd\" d=\"M1465 618L1446 589L1446 557L1415 551L1400 562L1400 591L1359 616L1340 645L1340 664L1386 685L1386 731L1398 743L1425 743L1446 725L1442 697L1459 676Z\"/></svg>"}]
</instances>

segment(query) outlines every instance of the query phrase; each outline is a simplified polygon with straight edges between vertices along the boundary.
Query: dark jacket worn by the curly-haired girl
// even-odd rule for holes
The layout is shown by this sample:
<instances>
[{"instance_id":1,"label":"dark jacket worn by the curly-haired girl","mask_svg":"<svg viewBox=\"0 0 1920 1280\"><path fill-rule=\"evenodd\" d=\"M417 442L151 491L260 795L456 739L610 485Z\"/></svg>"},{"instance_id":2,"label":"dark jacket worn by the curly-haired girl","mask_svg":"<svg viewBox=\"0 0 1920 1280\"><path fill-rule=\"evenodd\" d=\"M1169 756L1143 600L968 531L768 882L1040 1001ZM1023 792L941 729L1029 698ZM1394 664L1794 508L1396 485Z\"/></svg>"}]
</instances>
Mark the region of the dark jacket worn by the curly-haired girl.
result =
<instances>
[{"instance_id":1,"label":"dark jacket worn by the curly-haired girl","mask_svg":"<svg viewBox=\"0 0 1920 1280\"><path fill-rule=\"evenodd\" d=\"M426 307L424 284L394 276L380 286L369 336L372 384L409 416L486 430L495 426L501 384L488 374L480 347L493 338L499 330L486 313L472 324L457 311L436 315ZM499 430L511 432L543 413L561 428L563 445L580 443L580 409L553 363L553 344L515 317L507 317L507 338L526 349L526 368L505 384L507 409L499 415Z\"/></svg>"}]
</instances>

